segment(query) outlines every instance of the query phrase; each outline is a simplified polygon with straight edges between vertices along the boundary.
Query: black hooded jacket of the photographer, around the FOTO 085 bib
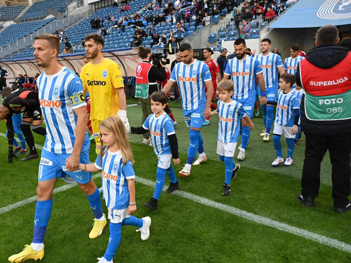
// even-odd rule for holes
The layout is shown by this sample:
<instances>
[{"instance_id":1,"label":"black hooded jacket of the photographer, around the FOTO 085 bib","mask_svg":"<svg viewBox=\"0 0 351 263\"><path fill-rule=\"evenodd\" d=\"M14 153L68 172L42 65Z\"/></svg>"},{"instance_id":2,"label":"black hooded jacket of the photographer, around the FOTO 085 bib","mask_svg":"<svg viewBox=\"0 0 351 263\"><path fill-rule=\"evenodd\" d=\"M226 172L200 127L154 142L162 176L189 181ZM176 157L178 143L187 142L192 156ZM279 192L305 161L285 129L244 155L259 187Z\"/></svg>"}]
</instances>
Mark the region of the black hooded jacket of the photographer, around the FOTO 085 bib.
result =
<instances>
[{"instance_id":1,"label":"black hooded jacket of the photographer, around the FOTO 085 bib","mask_svg":"<svg viewBox=\"0 0 351 263\"><path fill-rule=\"evenodd\" d=\"M347 52L347 48L325 44L312 48L306 54L306 59L316 67L327 69L337 65L339 62L345 59ZM302 87L300 81L300 65L298 65L296 70L295 81L298 86ZM351 120L311 121L307 119L305 113L305 95L302 95L301 99L300 116L301 129L305 133L312 133L323 136L342 136L351 133Z\"/></svg>"}]
</instances>

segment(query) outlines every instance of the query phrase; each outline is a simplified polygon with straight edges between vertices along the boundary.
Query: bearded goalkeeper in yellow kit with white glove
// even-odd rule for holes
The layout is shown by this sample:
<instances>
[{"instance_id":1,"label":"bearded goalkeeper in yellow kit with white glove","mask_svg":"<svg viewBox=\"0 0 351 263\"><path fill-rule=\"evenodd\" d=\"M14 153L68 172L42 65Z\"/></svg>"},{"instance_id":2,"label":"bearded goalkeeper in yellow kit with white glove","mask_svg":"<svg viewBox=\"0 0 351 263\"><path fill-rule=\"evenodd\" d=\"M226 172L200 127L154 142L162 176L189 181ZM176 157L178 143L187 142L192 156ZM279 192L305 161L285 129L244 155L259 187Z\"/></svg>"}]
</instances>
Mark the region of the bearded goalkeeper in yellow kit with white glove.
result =
<instances>
[{"instance_id":1,"label":"bearded goalkeeper in yellow kit with white glove","mask_svg":"<svg viewBox=\"0 0 351 263\"><path fill-rule=\"evenodd\" d=\"M80 78L84 91L88 90L91 101L91 127L96 142L96 153L99 154L101 121L115 114L119 115L127 133L130 126L127 119L127 103L124 83L119 65L102 56L104 38L98 34L90 34L85 38L85 53L91 62L82 67Z\"/></svg>"}]
</instances>

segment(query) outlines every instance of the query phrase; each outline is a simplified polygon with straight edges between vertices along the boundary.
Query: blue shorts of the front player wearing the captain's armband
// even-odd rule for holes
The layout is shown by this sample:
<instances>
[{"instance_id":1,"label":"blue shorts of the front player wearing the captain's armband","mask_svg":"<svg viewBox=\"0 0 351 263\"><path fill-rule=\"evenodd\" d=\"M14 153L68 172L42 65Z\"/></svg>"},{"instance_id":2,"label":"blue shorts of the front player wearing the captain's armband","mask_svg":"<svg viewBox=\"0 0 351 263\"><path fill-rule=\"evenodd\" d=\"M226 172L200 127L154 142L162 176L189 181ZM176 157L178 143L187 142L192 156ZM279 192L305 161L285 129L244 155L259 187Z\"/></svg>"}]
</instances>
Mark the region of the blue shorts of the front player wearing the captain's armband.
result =
<instances>
[{"instance_id":1,"label":"blue shorts of the front player wearing the captain's armband","mask_svg":"<svg viewBox=\"0 0 351 263\"><path fill-rule=\"evenodd\" d=\"M66 159L70 155L71 154L56 154L52 153L51 151L42 149L39 164L38 181L47 181L68 174L78 183L89 182L92 173L82 170L77 170L75 172L67 171ZM89 148L80 153L80 163L89 163Z\"/></svg>"}]
</instances>

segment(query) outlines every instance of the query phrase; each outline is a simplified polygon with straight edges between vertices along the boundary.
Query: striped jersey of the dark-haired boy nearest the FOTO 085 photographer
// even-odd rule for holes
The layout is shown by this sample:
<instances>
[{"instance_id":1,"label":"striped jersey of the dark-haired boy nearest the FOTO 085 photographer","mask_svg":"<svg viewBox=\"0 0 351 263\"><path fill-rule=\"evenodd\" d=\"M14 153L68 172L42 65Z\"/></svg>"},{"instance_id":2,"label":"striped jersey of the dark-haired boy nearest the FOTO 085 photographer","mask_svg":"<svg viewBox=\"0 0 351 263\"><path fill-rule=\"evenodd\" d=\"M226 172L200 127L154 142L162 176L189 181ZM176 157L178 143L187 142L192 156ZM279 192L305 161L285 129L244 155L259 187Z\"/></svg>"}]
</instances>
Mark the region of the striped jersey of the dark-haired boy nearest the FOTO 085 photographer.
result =
<instances>
[{"instance_id":1,"label":"striped jersey of the dark-haired boy nearest the FOTO 085 photographer","mask_svg":"<svg viewBox=\"0 0 351 263\"><path fill-rule=\"evenodd\" d=\"M284 93L278 90L276 123L282 126L294 125L294 109L300 109L300 103L293 91Z\"/></svg>"}]
</instances>

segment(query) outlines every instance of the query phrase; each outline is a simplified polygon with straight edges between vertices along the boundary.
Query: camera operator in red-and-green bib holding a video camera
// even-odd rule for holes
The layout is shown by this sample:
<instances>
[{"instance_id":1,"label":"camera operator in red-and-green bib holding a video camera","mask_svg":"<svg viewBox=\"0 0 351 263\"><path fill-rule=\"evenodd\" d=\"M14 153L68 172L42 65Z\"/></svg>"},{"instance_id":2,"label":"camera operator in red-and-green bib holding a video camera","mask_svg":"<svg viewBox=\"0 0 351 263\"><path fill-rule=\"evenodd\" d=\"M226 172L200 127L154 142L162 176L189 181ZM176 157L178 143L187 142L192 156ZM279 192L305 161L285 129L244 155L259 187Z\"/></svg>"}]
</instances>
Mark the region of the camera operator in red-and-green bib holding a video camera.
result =
<instances>
[{"instance_id":1,"label":"camera operator in red-and-green bib holding a video camera","mask_svg":"<svg viewBox=\"0 0 351 263\"><path fill-rule=\"evenodd\" d=\"M150 114L152 114L151 110L151 94L158 90L157 80L162 82L166 78L165 65L162 62L166 62L166 60L160 60L160 68L152 65L151 59L151 49L145 48L143 46L139 47L138 56L143 61L141 61L137 69L135 70L135 76L137 78L135 84L135 97L139 98L141 110L143 112L143 117L141 123L143 124ZM147 131L143 134L144 140L143 143L147 144L150 142L150 133Z\"/></svg>"}]
</instances>

